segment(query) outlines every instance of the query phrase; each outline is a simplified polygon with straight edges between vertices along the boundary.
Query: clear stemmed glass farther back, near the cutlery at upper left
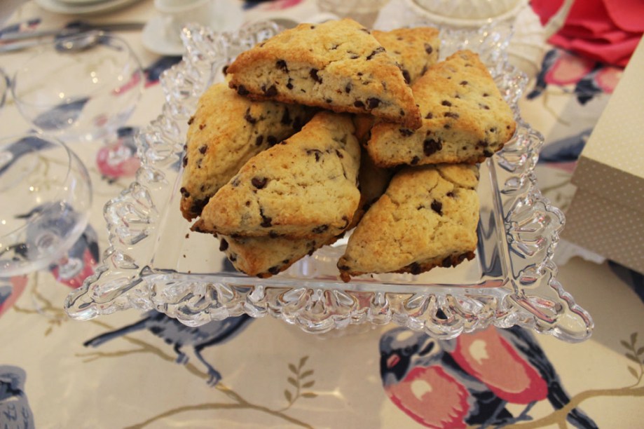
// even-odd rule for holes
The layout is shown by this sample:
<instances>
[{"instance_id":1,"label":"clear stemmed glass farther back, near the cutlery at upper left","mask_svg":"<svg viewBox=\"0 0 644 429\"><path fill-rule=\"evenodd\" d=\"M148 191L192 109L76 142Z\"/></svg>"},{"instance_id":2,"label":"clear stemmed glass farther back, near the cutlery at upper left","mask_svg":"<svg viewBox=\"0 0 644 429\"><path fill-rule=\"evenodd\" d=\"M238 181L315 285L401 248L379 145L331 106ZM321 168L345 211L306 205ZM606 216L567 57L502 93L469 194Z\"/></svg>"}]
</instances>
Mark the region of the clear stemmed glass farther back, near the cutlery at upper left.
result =
<instances>
[{"instance_id":1,"label":"clear stemmed glass farther back, near the cutlery at upper left","mask_svg":"<svg viewBox=\"0 0 644 429\"><path fill-rule=\"evenodd\" d=\"M20 114L64 142L116 147L141 97L144 75L123 39L86 32L44 43L20 64L11 91Z\"/></svg>"}]
</instances>

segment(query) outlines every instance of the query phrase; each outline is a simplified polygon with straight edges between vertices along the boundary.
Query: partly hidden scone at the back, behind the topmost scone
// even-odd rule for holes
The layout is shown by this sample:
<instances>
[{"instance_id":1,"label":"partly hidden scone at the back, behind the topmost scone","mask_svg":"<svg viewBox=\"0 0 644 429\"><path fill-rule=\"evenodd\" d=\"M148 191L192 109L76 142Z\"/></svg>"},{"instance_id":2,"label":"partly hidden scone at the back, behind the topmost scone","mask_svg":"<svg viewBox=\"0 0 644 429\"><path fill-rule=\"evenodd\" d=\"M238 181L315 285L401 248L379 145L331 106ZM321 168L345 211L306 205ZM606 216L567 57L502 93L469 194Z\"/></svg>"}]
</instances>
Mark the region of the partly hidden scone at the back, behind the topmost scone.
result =
<instances>
[{"instance_id":1,"label":"partly hidden scone at the back, behind the topmost scone","mask_svg":"<svg viewBox=\"0 0 644 429\"><path fill-rule=\"evenodd\" d=\"M393 29L371 32L387 53L402 67L407 83L414 83L438 61L441 40L433 27Z\"/></svg>"}]
</instances>

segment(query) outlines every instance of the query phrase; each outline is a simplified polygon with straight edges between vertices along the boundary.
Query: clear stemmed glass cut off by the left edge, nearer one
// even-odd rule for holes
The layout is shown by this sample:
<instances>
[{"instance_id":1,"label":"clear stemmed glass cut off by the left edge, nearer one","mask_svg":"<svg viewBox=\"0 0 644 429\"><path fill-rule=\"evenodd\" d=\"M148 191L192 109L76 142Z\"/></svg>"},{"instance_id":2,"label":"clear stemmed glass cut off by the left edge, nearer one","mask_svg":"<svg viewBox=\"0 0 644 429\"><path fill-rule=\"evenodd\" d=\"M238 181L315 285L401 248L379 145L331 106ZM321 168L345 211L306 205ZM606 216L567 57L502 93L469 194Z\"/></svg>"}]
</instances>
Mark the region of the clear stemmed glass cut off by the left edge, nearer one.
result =
<instances>
[{"instance_id":1,"label":"clear stemmed glass cut off by the left edge, nearer one","mask_svg":"<svg viewBox=\"0 0 644 429\"><path fill-rule=\"evenodd\" d=\"M82 261L67 257L88 223L92 184L82 161L59 139L27 133L0 139L0 277L58 263L71 278Z\"/></svg>"}]
</instances>

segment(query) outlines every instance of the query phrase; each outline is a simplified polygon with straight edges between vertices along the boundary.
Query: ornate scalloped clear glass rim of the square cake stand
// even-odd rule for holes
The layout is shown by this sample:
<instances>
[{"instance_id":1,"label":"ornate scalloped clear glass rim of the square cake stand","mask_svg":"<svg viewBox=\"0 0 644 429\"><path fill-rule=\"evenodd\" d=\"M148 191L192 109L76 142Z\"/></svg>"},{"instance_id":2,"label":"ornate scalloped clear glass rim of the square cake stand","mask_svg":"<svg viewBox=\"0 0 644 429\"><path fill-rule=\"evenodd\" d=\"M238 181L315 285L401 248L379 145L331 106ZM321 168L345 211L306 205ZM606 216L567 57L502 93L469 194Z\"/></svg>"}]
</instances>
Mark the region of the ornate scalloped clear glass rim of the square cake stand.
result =
<instances>
[{"instance_id":1,"label":"ornate scalloped clear glass rim of the square cake stand","mask_svg":"<svg viewBox=\"0 0 644 429\"><path fill-rule=\"evenodd\" d=\"M415 23L419 24L423 22ZM507 62L512 36L508 25L474 31L441 29L441 57L460 48L479 53L516 115L514 138L486 161L491 174L502 181L495 198L497 207L502 207L498 215L505 226L507 249L500 247L508 276L500 287L413 291L342 282L294 285L279 276L264 280L222 276L213 281L213 275L151 266L160 215L174 190L174 179L168 179L167 172L183 151L179 123L191 116L200 94L231 57L279 31L273 22L222 34L199 26L184 29L183 60L161 76L166 100L162 113L137 135L142 165L136 179L104 207L109 247L102 263L64 302L71 318L89 320L137 308L163 312L189 326L247 313L255 318L268 314L312 333L395 322L441 339L490 325L521 325L568 342L589 338L591 316L556 280L552 256L564 217L537 187L534 169L544 138L519 114L517 102L527 78Z\"/></svg>"}]
</instances>

